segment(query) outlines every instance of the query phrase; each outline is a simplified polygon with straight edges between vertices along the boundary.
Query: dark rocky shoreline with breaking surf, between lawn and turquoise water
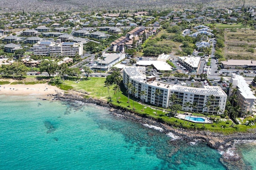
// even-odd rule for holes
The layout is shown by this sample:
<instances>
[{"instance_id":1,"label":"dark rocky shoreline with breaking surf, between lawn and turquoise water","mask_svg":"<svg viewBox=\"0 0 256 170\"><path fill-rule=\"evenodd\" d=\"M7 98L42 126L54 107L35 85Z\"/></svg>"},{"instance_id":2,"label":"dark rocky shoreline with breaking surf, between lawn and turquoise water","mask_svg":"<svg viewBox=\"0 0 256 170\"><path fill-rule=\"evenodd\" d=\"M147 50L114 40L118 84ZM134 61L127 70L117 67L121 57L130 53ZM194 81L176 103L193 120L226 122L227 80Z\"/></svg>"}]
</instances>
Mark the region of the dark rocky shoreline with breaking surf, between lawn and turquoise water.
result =
<instances>
[{"instance_id":1,"label":"dark rocky shoreline with breaking surf, between lawn and turquoise water","mask_svg":"<svg viewBox=\"0 0 256 170\"><path fill-rule=\"evenodd\" d=\"M126 108L113 106L112 104L102 100L93 99L93 98L84 98L84 95L82 94L75 94L75 93L55 94L55 95L52 95L52 97L54 97L54 100L80 101L80 102L89 103L89 104L96 104L97 106L101 106L109 109L110 113L113 115L122 117L124 119L130 119L132 121L136 121L141 125L151 125L154 127L159 127L162 133L172 134L180 139L187 141L188 143L194 142L194 141L206 142L211 148L216 149L219 152L223 153L220 161L228 169L232 169L232 170L236 170L236 169L250 170L251 169L251 167L246 166L240 154L238 154L238 152L236 151L235 144L245 143L247 141L256 141L255 129L252 129L248 133L234 133L231 135L223 135L221 133L214 133L210 131L184 129L184 128L174 127L166 123L159 122L152 117L138 115Z\"/></svg>"}]
</instances>

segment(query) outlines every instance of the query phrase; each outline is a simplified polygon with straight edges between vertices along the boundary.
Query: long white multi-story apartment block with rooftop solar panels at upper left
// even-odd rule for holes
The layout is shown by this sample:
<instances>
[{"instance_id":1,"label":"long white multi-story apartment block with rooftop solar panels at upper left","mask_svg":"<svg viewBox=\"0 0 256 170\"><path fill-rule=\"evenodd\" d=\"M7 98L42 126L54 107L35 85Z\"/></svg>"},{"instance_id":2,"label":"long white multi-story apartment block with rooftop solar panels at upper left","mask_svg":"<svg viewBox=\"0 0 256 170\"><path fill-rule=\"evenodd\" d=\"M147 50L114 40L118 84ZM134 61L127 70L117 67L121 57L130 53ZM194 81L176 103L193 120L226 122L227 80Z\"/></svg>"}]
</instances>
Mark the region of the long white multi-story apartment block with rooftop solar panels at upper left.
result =
<instances>
[{"instance_id":1,"label":"long white multi-story apartment block with rooftop solar panels at upper left","mask_svg":"<svg viewBox=\"0 0 256 170\"><path fill-rule=\"evenodd\" d=\"M33 45L34 55L75 56L83 54L83 44L74 42L38 42Z\"/></svg>"}]
</instances>

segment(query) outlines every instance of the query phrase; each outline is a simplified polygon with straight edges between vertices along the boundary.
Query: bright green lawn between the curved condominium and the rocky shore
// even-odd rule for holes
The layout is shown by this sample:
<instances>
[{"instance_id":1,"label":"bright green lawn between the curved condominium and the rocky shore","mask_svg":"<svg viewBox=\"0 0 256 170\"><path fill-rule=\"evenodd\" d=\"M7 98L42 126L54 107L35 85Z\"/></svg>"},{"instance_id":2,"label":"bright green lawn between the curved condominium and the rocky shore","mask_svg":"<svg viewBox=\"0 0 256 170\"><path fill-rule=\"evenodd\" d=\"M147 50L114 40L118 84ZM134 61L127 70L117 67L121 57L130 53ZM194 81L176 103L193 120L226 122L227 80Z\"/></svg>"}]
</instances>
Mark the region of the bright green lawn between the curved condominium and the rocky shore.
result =
<instances>
[{"instance_id":1,"label":"bright green lawn between the curved condominium and the rocky shore","mask_svg":"<svg viewBox=\"0 0 256 170\"><path fill-rule=\"evenodd\" d=\"M108 90L106 87L104 87L104 81L105 78L96 78L96 77L90 77L88 80L82 80L79 83L76 83L75 81L65 81L65 84L72 86L76 89L80 89L80 90L84 90L88 93L90 93L90 96L94 97L94 98L100 98L102 100L108 100ZM116 106L121 106L127 109L130 109L130 111L135 111L137 113L140 113L144 116L148 116L148 117L154 117L155 119L158 119L160 121L165 121L167 123L169 123L170 125L175 125L178 127L186 127L186 128L192 128L192 129L198 129L198 128L202 128L203 123L191 123L188 121L184 121L182 119L178 119L175 117L168 117L166 115L166 113L169 113L170 109L166 109L166 108L162 108L161 110L158 108L156 109L156 107L153 106L143 106L142 108L142 104L136 102L136 100L132 100L132 95L130 95L130 107L129 107L129 103L128 103L128 97L126 94L126 90L124 88L121 88L121 92L119 95L114 94L114 90L113 90L113 86L110 87L110 96L112 98L112 104L116 105ZM118 96L118 101L117 102L117 96ZM120 98L119 98L120 96ZM134 103L134 104L133 104ZM133 107L135 109L133 109ZM142 109L144 109L144 111L142 111ZM155 112L157 112L157 115L155 114ZM184 111L178 111L178 113L184 113ZM202 116L204 117L203 114L200 113L196 113L194 115L198 115L198 116ZM210 116L208 116L210 117ZM214 116L215 117L215 116ZM217 116L216 118L220 118L220 116ZM254 118L247 118L246 120L249 119L254 119ZM244 123L245 121L244 120ZM230 127L230 125L232 124L232 121L229 121L229 124L226 123L227 121L218 121L215 122L213 124L205 124L206 129L210 130L210 131L216 131L216 132L222 132L222 133L232 133L235 131L246 131L248 128L255 128L256 125L235 125L234 127Z\"/></svg>"}]
</instances>

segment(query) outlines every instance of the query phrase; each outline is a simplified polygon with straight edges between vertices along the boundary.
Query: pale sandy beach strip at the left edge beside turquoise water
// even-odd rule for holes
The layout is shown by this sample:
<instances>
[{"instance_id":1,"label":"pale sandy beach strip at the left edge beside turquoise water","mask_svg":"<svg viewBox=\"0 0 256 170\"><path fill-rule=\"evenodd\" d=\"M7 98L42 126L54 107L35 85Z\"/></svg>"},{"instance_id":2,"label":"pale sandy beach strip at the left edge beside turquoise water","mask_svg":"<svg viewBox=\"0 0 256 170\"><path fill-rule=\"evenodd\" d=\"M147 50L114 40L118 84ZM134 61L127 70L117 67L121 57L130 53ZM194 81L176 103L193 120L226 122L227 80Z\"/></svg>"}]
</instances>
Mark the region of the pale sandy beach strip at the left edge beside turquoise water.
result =
<instances>
[{"instance_id":1,"label":"pale sandy beach strip at the left edge beside turquoise water","mask_svg":"<svg viewBox=\"0 0 256 170\"><path fill-rule=\"evenodd\" d=\"M0 85L0 94L17 95L43 95L62 93L63 91L56 86L48 84L4 84Z\"/></svg>"}]
</instances>

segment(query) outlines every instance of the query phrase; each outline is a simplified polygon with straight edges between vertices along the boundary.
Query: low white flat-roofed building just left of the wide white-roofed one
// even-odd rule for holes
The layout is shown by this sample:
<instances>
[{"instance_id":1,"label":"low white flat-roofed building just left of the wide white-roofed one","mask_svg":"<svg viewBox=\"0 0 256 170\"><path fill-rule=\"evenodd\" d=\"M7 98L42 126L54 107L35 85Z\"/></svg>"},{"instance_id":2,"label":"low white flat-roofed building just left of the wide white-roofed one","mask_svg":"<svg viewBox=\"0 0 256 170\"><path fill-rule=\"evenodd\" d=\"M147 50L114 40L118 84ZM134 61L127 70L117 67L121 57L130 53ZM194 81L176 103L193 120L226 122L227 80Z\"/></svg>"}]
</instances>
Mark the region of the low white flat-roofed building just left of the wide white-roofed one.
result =
<instances>
[{"instance_id":1,"label":"low white flat-roofed building just left of the wide white-roofed one","mask_svg":"<svg viewBox=\"0 0 256 170\"><path fill-rule=\"evenodd\" d=\"M104 53L102 55L103 59L102 60L97 60L96 63L94 63L90 68L92 70L104 70L108 71L114 64L119 63L121 60L125 58L124 53L114 53L114 54L109 54L109 53Z\"/></svg>"}]
</instances>

